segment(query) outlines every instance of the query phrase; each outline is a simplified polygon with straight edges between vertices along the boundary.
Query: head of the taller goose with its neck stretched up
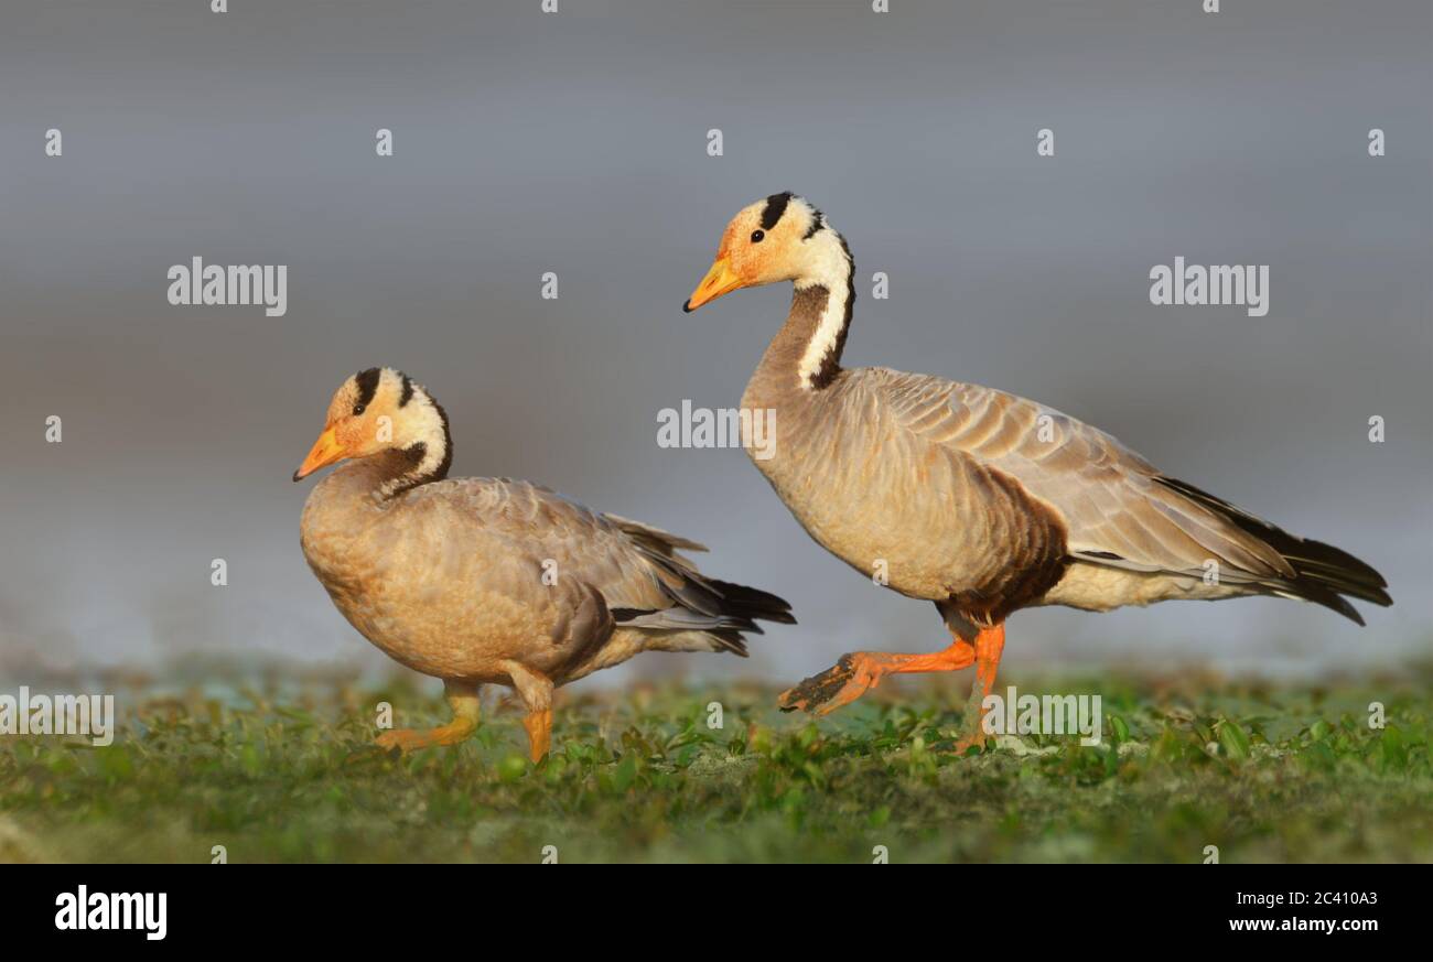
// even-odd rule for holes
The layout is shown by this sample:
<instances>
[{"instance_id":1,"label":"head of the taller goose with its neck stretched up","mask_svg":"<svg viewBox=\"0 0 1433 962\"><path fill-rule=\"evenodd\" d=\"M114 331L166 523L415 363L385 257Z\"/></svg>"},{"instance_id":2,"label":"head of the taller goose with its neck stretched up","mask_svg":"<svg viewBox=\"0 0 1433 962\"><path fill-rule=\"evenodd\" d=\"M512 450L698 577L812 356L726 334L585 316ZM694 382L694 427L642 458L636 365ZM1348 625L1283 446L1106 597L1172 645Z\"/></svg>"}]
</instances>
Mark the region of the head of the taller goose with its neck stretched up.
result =
<instances>
[{"instance_id":1,"label":"head of the taller goose with its neck stretched up","mask_svg":"<svg viewBox=\"0 0 1433 962\"><path fill-rule=\"evenodd\" d=\"M742 208L722 233L716 261L682 309L691 314L738 288L791 281L795 286L847 283L845 240L805 198L790 190Z\"/></svg>"}]
</instances>

